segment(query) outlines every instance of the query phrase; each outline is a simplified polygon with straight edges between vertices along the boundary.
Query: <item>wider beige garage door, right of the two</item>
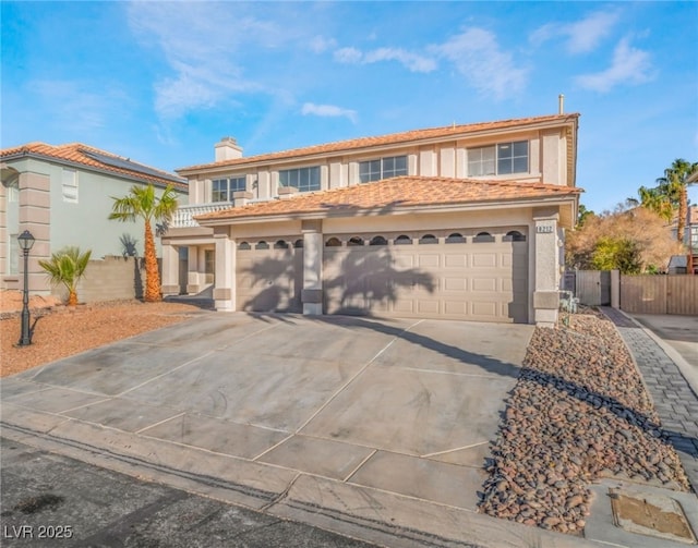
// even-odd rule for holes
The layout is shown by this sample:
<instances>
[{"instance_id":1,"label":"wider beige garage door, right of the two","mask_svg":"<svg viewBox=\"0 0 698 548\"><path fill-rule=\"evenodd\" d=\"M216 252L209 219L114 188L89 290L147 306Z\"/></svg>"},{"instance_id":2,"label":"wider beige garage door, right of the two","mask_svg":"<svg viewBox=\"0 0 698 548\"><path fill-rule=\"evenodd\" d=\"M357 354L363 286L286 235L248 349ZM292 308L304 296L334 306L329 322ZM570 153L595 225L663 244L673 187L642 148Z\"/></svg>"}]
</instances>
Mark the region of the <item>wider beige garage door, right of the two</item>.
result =
<instances>
[{"instance_id":1,"label":"wider beige garage door, right of the two","mask_svg":"<svg viewBox=\"0 0 698 548\"><path fill-rule=\"evenodd\" d=\"M527 322L525 230L326 236L325 312Z\"/></svg>"}]
</instances>

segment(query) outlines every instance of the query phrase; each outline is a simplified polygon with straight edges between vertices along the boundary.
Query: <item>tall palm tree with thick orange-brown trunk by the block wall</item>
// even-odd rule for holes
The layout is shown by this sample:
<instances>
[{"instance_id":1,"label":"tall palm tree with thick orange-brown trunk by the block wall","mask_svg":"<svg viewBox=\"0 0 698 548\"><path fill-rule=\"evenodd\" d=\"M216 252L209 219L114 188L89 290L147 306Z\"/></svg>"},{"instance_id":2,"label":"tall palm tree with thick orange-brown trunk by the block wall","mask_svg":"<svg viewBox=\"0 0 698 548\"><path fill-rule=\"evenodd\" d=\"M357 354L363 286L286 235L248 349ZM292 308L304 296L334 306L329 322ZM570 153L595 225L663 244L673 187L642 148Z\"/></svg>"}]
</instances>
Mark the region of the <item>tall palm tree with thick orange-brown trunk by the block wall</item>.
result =
<instances>
[{"instance_id":1,"label":"tall palm tree with thick orange-brown trunk by the block wall","mask_svg":"<svg viewBox=\"0 0 698 548\"><path fill-rule=\"evenodd\" d=\"M177 210L177 193L171 185L167 185L163 195L158 198L155 187L132 186L123 198L111 197L113 202L112 212L109 219L122 222L133 222L143 219L145 222L145 293L144 301L155 303L160 300L160 275L157 268L157 255L155 253L155 236L152 222L165 223L170 221Z\"/></svg>"}]
</instances>

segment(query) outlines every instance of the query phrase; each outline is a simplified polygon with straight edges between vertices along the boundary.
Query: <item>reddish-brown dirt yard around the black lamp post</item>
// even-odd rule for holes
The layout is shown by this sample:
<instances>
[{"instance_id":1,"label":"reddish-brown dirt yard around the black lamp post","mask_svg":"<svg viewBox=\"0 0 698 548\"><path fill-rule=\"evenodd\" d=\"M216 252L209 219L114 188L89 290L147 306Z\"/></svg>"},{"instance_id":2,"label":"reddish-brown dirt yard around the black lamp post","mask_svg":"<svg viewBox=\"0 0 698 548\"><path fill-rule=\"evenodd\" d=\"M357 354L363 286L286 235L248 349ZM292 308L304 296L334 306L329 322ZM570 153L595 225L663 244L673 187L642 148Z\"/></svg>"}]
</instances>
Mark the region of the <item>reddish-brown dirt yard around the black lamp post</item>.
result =
<instances>
[{"instance_id":1,"label":"reddish-brown dirt yard around the black lamp post","mask_svg":"<svg viewBox=\"0 0 698 548\"><path fill-rule=\"evenodd\" d=\"M17 346L21 310L21 292L0 292L0 377L177 324L201 312L189 304L135 300L68 307L55 297L35 296L29 301L32 344Z\"/></svg>"}]
</instances>

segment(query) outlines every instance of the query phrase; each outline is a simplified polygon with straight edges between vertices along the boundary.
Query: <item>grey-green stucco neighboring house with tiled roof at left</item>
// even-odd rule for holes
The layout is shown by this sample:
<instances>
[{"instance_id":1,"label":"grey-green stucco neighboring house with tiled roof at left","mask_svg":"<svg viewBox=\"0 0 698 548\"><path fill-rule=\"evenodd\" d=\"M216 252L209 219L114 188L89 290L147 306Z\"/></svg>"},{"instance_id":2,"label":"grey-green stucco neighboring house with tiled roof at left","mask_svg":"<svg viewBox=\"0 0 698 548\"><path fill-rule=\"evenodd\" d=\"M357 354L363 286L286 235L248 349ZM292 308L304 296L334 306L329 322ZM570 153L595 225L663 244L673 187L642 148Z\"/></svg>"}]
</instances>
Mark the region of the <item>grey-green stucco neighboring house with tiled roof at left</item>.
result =
<instances>
[{"instance_id":1,"label":"grey-green stucco neighboring house with tiled roof at left","mask_svg":"<svg viewBox=\"0 0 698 548\"><path fill-rule=\"evenodd\" d=\"M108 219L115 197L133 185L173 185L186 203L186 181L80 143L52 146L29 143L0 150L0 289L22 289L17 235L36 239L29 254L29 289L46 293L50 285L38 260L68 245L92 249L94 259L143 254L143 222Z\"/></svg>"}]
</instances>

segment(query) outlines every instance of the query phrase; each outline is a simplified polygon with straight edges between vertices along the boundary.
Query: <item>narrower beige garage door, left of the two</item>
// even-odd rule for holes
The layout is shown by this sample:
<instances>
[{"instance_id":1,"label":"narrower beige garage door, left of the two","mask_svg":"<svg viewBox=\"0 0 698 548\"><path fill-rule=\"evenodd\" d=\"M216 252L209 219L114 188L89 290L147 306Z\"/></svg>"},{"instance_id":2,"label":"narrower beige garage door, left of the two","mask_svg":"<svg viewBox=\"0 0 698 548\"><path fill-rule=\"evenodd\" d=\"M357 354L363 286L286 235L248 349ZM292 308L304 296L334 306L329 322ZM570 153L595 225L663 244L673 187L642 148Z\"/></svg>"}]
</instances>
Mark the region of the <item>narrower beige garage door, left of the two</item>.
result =
<instances>
[{"instance_id":1,"label":"narrower beige garage door, left of the two","mask_svg":"<svg viewBox=\"0 0 698 548\"><path fill-rule=\"evenodd\" d=\"M303 241L296 238L238 242L237 308L303 312Z\"/></svg>"}]
</instances>

